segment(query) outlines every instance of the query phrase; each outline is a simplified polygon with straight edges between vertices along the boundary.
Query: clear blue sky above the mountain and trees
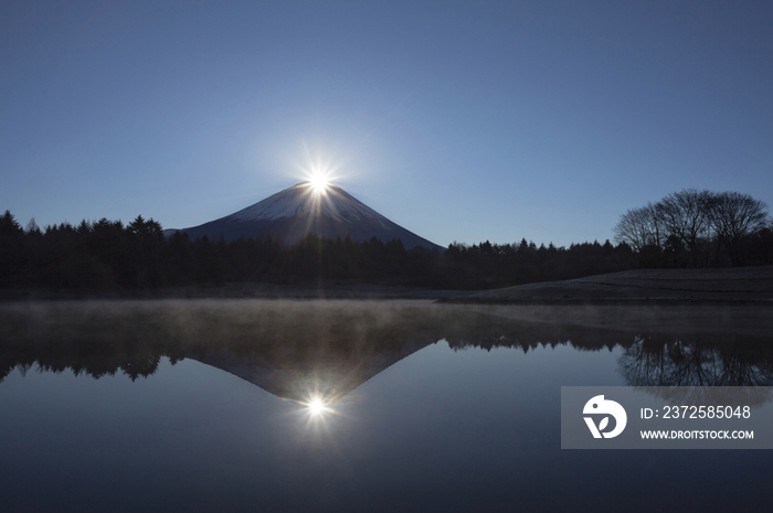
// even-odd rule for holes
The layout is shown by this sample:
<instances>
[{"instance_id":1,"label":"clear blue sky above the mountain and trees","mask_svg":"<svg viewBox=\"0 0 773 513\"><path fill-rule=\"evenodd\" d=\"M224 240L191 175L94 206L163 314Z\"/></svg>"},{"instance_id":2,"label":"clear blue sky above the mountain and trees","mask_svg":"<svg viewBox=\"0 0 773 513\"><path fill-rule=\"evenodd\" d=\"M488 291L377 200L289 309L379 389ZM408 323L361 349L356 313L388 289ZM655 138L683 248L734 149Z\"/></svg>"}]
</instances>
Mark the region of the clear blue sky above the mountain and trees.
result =
<instances>
[{"instance_id":1,"label":"clear blue sky above the mountain and trees","mask_svg":"<svg viewBox=\"0 0 773 513\"><path fill-rule=\"evenodd\" d=\"M202 224L325 169L430 241L773 205L770 1L0 2L0 211Z\"/></svg>"}]
</instances>

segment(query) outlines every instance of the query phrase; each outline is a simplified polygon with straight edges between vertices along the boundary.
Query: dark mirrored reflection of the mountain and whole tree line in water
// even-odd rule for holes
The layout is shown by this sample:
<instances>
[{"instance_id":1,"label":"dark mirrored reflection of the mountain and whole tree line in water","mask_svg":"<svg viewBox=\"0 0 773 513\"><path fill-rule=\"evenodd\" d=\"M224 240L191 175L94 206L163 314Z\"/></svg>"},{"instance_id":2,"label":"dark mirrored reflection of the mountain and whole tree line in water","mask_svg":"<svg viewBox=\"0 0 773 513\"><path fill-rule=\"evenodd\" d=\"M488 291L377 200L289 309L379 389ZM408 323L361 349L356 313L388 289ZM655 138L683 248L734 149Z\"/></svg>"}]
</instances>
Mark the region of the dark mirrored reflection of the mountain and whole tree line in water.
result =
<instances>
[{"instance_id":1,"label":"dark mirrored reflection of the mountain and whole tree line in water","mask_svg":"<svg viewBox=\"0 0 773 513\"><path fill-rule=\"evenodd\" d=\"M426 302L72 302L4 307L0 321L0 382L15 367L95 378L123 372L134 381L166 356L197 360L282 398L304 403L314 394L330 404L445 341L453 350L525 353L621 346L618 373L632 386L773 385L769 339L526 322Z\"/></svg>"}]
</instances>

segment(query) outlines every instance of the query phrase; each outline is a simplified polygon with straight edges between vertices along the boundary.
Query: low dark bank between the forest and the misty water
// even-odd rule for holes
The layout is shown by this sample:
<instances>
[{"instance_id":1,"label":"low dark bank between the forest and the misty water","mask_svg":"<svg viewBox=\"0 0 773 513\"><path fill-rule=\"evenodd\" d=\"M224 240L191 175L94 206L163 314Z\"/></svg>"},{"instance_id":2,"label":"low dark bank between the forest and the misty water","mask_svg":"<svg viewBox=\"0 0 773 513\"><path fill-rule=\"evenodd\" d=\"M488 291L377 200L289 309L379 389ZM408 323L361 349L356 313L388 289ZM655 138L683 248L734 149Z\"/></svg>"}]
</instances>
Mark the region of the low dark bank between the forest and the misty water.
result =
<instances>
[{"instance_id":1,"label":"low dark bank between the forest and the misty water","mask_svg":"<svg viewBox=\"0 0 773 513\"><path fill-rule=\"evenodd\" d=\"M489 290L328 281L222 282L156 290L0 290L0 302L112 299L430 299L469 304L773 304L773 266L636 269Z\"/></svg>"}]
</instances>

